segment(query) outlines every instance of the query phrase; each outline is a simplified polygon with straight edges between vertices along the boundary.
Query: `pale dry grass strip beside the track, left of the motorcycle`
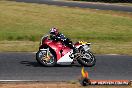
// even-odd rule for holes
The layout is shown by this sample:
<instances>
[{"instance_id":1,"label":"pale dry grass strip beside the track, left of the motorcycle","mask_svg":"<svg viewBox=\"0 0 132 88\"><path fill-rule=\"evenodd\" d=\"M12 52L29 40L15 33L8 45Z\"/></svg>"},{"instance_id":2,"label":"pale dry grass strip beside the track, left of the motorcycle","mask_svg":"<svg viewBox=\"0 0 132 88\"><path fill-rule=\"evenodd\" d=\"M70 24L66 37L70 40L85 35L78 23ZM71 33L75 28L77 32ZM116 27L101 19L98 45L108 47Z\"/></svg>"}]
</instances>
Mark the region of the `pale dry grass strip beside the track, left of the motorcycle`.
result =
<instances>
[{"instance_id":1,"label":"pale dry grass strip beside the track, left of the motorcycle","mask_svg":"<svg viewBox=\"0 0 132 88\"><path fill-rule=\"evenodd\" d=\"M0 41L0 52L35 52L38 46L32 41Z\"/></svg>"}]
</instances>

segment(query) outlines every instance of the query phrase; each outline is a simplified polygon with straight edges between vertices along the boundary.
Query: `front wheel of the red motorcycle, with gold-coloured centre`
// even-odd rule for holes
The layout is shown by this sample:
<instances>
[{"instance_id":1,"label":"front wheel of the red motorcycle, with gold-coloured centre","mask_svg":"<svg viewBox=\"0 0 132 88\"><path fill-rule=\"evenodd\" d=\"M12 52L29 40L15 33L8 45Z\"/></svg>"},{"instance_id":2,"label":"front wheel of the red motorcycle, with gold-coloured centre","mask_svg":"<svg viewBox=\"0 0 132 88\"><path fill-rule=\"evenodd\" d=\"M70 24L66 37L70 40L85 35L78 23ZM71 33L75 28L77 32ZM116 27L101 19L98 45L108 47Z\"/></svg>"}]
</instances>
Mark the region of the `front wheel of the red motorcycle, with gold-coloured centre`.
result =
<instances>
[{"instance_id":1,"label":"front wheel of the red motorcycle, with gold-coloured centre","mask_svg":"<svg viewBox=\"0 0 132 88\"><path fill-rule=\"evenodd\" d=\"M48 53L48 57L47 57L47 53ZM49 49L49 52L39 50L36 53L36 60L42 66L51 67L56 65L56 56L52 49Z\"/></svg>"}]
</instances>

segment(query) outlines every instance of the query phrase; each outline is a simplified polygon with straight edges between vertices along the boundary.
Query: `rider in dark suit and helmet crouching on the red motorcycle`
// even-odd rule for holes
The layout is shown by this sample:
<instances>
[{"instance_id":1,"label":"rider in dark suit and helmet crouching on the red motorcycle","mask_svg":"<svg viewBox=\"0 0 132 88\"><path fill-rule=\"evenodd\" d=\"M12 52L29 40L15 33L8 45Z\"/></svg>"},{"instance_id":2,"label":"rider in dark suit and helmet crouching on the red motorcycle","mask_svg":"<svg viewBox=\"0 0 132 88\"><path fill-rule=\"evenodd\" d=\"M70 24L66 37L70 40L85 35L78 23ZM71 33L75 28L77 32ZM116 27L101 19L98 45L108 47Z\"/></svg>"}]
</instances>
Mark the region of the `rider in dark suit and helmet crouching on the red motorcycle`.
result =
<instances>
[{"instance_id":1,"label":"rider in dark suit and helmet crouching on the red motorcycle","mask_svg":"<svg viewBox=\"0 0 132 88\"><path fill-rule=\"evenodd\" d=\"M60 33L55 27L50 29L50 39L55 41L61 41L70 49L73 49L73 54L78 53L78 49L73 45L72 41L69 38L66 38L64 34Z\"/></svg>"}]
</instances>

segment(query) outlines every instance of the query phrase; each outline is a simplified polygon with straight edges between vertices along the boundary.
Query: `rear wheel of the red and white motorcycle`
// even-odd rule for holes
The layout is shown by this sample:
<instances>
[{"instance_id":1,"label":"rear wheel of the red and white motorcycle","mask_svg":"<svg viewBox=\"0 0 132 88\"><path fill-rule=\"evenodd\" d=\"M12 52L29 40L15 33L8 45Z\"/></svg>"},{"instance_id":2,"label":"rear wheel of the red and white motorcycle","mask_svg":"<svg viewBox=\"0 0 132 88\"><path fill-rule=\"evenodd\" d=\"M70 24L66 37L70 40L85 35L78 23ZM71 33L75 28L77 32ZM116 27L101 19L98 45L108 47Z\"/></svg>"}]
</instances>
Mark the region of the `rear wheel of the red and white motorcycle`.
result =
<instances>
[{"instance_id":1,"label":"rear wheel of the red and white motorcycle","mask_svg":"<svg viewBox=\"0 0 132 88\"><path fill-rule=\"evenodd\" d=\"M96 59L90 51L85 51L81 58L78 59L78 63L82 66L92 67L95 65Z\"/></svg>"}]
</instances>

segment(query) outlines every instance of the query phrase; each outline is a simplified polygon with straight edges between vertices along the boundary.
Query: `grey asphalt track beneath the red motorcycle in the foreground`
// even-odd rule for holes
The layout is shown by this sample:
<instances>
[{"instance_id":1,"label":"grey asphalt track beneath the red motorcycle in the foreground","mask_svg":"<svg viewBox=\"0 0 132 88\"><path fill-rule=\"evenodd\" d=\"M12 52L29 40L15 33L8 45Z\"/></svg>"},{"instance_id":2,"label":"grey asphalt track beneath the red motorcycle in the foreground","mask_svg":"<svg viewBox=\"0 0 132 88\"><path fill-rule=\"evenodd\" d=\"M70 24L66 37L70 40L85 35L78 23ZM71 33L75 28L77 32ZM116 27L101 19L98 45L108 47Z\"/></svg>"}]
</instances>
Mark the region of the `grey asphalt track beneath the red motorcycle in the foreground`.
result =
<instances>
[{"instance_id":1,"label":"grey asphalt track beneath the red motorcycle in the foreground","mask_svg":"<svg viewBox=\"0 0 132 88\"><path fill-rule=\"evenodd\" d=\"M95 67L85 67L91 79L132 80L132 56L96 55ZM0 81L71 81L81 76L79 64L42 67L34 53L0 53Z\"/></svg>"}]
</instances>

